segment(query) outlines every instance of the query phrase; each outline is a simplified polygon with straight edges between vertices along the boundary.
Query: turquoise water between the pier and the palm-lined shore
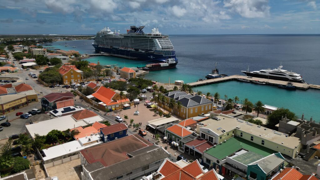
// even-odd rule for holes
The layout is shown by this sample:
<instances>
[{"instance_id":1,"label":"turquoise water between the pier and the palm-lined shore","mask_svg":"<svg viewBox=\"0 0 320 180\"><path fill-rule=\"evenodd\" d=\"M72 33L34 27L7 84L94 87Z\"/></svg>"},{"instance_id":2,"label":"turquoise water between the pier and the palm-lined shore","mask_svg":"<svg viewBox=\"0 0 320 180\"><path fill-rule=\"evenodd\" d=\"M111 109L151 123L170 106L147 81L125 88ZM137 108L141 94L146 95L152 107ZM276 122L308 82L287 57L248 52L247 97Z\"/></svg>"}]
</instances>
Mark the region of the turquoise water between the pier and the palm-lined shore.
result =
<instances>
[{"instance_id":1,"label":"turquoise water between the pier and the palm-lined shore","mask_svg":"<svg viewBox=\"0 0 320 180\"><path fill-rule=\"evenodd\" d=\"M299 118L304 113L306 119L310 119L313 116L313 120L320 121L320 111L317 106L320 100L320 91L315 89L288 91L271 85L228 81L194 87L193 91L201 91L203 94L218 92L221 99L224 99L225 94L228 98L238 96L240 101L237 103L241 103L241 100L244 101L245 98L248 98L253 103L260 100L270 106L288 108L295 112Z\"/></svg>"}]
</instances>

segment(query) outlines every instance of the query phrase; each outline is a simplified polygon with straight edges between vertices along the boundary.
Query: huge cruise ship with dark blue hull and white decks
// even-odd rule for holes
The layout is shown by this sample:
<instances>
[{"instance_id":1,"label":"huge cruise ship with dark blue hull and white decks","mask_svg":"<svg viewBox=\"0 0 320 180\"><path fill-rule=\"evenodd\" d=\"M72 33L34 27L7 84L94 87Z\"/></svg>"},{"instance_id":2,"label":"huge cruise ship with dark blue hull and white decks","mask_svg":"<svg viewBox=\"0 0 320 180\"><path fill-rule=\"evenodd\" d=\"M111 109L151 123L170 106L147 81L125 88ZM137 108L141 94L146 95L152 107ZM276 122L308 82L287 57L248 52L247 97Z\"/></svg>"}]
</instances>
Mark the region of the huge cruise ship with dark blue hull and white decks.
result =
<instances>
[{"instance_id":1,"label":"huge cruise ship with dark blue hull and white decks","mask_svg":"<svg viewBox=\"0 0 320 180\"><path fill-rule=\"evenodd\" d=\"M144 26L130 26L126 34L104 28L97 32L92 43L97 53L135 58L142 61L165 62L174 59L178 63L176 52L168 35L162 35L158 28L151 33L143 32ZM149 63L148 62L148 63Z\"/></svg>"}]
</instances>

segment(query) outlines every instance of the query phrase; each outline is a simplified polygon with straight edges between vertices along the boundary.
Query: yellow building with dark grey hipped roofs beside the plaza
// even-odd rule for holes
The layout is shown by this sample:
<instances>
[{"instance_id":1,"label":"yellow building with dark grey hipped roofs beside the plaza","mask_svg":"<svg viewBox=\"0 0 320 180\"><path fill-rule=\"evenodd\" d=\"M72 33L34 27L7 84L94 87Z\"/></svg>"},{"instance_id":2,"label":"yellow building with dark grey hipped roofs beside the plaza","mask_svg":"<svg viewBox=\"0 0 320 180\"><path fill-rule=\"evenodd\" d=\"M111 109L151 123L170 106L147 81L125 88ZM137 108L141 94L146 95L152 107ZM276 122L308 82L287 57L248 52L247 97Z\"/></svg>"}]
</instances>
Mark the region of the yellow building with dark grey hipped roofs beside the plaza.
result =
<instances>
[{"instance_id":1,"label":"yellow building with dark grey hipped roofs beside the plaza","mask_svg":"<svg viewBox=\"0 0 320 180\"><path fill-rule=\"evenodd\" d=\"M164 95L169 98L169 100L173 98L176 102L181 102L182 108L174 110L174 113L185 119L198 116L202 113L206 114L212 110L213 102L199 95L193 96L181 91L172 91ZM160 106L173 113L173 110L169 108L168 104L160 104Z\"/></svg>"}]
</instances>

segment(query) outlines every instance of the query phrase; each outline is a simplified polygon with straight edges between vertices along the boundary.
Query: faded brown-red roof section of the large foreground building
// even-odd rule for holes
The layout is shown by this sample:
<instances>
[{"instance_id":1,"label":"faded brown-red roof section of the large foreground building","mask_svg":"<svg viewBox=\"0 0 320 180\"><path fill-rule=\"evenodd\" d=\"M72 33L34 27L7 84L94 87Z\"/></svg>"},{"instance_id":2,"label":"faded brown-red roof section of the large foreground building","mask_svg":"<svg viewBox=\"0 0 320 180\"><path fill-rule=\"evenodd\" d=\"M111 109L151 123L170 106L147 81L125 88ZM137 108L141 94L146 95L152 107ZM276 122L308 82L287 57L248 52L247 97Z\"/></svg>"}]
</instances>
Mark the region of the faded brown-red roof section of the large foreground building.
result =
<instances>
[{"instance_id":1,"label":"faded brown-red roof section of the large foreground building","mask_svg":"<svg viewBox=\"0 0 320 180\"><path fill-rule=\"evenodd\" d=\"M127 153L153 144L140 135L128 135L108 143L80 151L89 164L100 162L105 167L129 159ZM110 155L111 154L111 155Z\"/></svg>"}]
</instances>

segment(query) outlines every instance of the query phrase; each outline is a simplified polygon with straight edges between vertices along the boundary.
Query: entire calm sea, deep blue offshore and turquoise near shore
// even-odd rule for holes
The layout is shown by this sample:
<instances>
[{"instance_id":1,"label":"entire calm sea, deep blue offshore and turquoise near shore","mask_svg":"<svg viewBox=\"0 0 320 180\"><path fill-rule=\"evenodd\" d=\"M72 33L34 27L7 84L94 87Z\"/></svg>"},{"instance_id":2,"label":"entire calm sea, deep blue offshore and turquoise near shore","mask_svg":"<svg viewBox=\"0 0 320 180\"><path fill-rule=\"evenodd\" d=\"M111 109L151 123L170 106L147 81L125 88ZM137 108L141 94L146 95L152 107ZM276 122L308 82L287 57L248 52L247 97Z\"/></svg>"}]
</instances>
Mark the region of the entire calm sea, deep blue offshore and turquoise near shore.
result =
<instances>
[{"instance_id":1,"label":"entire calm sea, deep blue offshore and turquoise near shore","mask_svg":"<svg viewBox=\"0 0 320 180\"><path fill-rule=\"evenodd\" d=\"M145 78L160 82L184 80L186 83L204 78L218 62L220 74L244 75L241 70L274 69L280 65L284 70L301 74L310 84L320 84L320 35L172 35L170 40L176 50L179 63L175 69L150 71ZM93 40L53 42L54 47L94 53ZM87 45L83 45L83 44ZM68 47L64 45L68 44ZM77 48L72 48L77 46ZM104 65L126 67L143 66L143 61L116 57L92 57L90 62L100 61ZM248 98L252 102L285 107L298 117L304 113L320 122L320 90L287 91L276 86L262 86L242 82L225 82L195 87L203 93L219 92L221 98L238 96L240 101Z\"/></svg>"}]
</instances>

